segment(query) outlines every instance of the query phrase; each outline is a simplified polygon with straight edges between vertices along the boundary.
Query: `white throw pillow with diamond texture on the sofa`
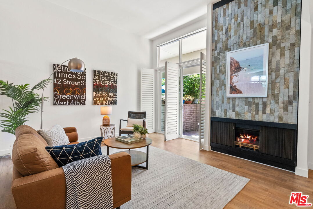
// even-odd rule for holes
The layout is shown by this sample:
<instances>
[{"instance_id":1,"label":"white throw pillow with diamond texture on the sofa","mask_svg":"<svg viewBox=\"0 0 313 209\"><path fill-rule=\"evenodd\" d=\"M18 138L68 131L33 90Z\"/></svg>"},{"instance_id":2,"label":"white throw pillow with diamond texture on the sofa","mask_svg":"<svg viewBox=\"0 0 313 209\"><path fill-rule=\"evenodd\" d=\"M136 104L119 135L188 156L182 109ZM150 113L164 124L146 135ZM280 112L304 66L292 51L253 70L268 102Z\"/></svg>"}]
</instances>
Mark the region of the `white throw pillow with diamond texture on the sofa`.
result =
<instances>
[{"instance_id":1,"label":"white throw pillow with diamond texture on the sofa","mask_svg":"<svg viewBox=\"0 0 313 209\"><path fill-rule=\"evenodd\" d=\"M49 129L39 129L37 131L50 147L69 144L69 137L67 137L60 125L54 125Z\"/></svg>"}]
</instances>

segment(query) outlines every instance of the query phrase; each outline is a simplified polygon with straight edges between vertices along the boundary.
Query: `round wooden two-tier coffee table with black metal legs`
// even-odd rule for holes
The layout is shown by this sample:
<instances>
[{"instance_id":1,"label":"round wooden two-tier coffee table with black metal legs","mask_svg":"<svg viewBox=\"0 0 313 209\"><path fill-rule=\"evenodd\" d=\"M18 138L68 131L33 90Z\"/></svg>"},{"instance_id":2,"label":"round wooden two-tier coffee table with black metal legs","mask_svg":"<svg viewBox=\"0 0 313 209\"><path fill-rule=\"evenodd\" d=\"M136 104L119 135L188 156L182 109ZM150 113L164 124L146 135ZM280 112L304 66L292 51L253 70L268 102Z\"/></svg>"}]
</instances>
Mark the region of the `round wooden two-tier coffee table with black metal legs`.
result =
<instances>
[{"instance_id":1,"label":"round wooden two-tier coffee table with black metal legs","mask_svg":"<svg viewBox=\"0 0 313 209\"><path fill-rule=\"evenodd\" d=\"M120 151L120 152L127 152L131 155L131 166L135 166L138 168L144 168L148 169L148 156L149 156L149 145L152 144L152 140L148 137L142 141L138 141L132 144L126 144L121 141L115 140L115 138L109 138L104 141L104 144L106 145L106 154L109 155L109 148L116 148L116 149L128 149L126 151ZM141 147L147 147L147 153L141 152L138 150L131 150ZM115 152L119 153L119 152ZM141 163L146 162L146 167L144 166L138 166Z\"/></svg>"}]
</instances>

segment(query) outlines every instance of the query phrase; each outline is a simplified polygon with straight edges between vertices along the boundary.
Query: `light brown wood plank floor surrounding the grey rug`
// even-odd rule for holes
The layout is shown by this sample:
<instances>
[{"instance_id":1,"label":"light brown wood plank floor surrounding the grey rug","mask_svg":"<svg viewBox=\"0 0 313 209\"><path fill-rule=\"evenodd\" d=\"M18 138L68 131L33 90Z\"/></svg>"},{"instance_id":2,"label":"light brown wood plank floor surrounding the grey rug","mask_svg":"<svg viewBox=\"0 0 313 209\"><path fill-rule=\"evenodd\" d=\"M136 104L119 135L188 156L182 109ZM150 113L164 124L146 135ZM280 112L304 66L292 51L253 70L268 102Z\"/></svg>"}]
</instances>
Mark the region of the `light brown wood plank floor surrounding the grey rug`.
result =
<instances>
[{"instance_id":1,"label":"light brown wood plank floor surrounding the grey rug","mask_svg":"<svg viewBox=\"0 0 313 209\"><path fill-rule=\"evenodd\" d=\"M152 133L152 146L249 178L249 183L233 198L225 209L297 208L289 205L291 192L309 195L313 203L313 171L309 178L259 163L246 161L218 152L198 150L198 143L184 139L164 141L164 135ZM12 161L0 159L0 209L13 209L11 194ZM305 208L305 207L304 207Z\"/></svg>"}]
</instances>

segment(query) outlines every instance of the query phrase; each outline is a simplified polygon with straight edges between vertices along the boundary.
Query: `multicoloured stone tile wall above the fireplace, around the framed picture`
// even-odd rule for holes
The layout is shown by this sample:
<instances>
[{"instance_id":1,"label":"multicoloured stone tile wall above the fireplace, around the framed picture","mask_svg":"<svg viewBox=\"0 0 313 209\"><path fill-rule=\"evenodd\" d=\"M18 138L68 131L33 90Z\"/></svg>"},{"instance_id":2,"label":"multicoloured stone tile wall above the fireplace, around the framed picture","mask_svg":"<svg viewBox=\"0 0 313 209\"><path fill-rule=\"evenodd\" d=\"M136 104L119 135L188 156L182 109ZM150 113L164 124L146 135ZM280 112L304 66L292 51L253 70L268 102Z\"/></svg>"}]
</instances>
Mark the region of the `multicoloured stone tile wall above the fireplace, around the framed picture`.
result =
<instances>
[{"instance_id":1,"label":"multicoloured stone tile wall above the fireplace, around the framed picture","mask_svg":"<svg viewBox=\"0 0 313 209\"><path fill-rule=\"evenodd\" d=\"M211 116L297 123L301 0L234 0L213 10ZM269 43L267 98L226 98L226 52Z\"/></svg>"}]
</instances>

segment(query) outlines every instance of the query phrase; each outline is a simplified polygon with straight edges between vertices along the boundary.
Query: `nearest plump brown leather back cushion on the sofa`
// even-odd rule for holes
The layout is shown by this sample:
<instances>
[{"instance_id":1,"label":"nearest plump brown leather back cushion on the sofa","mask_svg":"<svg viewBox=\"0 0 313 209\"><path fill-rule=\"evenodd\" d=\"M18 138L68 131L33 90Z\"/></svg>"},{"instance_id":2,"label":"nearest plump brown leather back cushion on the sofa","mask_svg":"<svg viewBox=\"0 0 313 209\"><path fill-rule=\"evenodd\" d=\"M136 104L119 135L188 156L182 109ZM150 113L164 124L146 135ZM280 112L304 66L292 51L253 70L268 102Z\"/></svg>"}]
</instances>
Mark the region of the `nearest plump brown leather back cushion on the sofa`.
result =
<instances>
[{"instance_id":1,"label":"nearest plump brown leather back cushion on the sofa","mask_svg":"<svg viewBox=\"0 0 313 209\"><path fill-rule=\"evenodd\" d=\"M25 128L27 127L22 127L22 130L17 128L17 132L20 131L20 133L17 133L17 139L13 144L12 161L14 167L23 176L58 168L57 163L45 150L47 143L41 137L37 137L35 130L26 131ZM21 134L22 132L23 134Z\"/></svg>"}]
</instances>

